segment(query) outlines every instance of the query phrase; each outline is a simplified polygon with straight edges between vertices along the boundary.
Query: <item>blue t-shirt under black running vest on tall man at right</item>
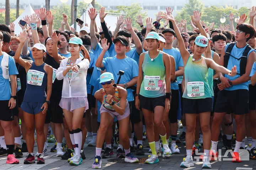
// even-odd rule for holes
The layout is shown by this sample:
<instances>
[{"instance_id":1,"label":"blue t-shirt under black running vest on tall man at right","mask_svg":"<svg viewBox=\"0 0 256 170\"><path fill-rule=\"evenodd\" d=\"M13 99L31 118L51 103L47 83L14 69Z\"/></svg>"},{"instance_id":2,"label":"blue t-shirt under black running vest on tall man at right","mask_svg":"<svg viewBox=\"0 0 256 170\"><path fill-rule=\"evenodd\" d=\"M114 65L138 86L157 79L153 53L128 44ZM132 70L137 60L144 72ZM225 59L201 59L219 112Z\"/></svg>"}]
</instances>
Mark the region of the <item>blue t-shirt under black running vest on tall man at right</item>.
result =
<instances>
[{"instance_id":1,"label":"blue t-shirt under black running vest on tall man at right","mask_svg":"<svg viewBox=\"0 0 256 170\"><path fill-rule=\"evenodd\" d=\"M248 44L247 44L247 45L248 45ZM247 45L246 45L246 46L247 46ZM226 49L227 49L228 46L229 46L229 44L226 45L226 47L225 47L225 52L226 52ZM241 58L242 53L244 52L246 46L245 46L244 48L238 48L238 47L236 47L236 44L234 45L232 51L230 52L230 56L229 56L229 61L228 61L227 69L231 70L232 67L236 66L237 73L240 73L240 60L238 60L238 59ZM254 49L251 49L251 50L249 51L248 55L247 55L247 58L248 58L249 54L250 54L252 51L255 52ZM234 56L234 57L236 57L236 58L232 57L231 55ZM232 77L232 76L230 76L230 75L228 75L228 74L224 74L224 77L228 78L229 80L235 80L235 79L239 78L240 75L239 75L239 74L236 74L234 77ZM248 81L246 81L246 82L244 82L244 83L241 83L241 84L233 85L233 86L231 86L231 87L226 88L225 90L231 91L231 90L238 90L238 89L246 89L246 90L249 90L249 83L248 83Z\"/></svg>"}]
</instances>

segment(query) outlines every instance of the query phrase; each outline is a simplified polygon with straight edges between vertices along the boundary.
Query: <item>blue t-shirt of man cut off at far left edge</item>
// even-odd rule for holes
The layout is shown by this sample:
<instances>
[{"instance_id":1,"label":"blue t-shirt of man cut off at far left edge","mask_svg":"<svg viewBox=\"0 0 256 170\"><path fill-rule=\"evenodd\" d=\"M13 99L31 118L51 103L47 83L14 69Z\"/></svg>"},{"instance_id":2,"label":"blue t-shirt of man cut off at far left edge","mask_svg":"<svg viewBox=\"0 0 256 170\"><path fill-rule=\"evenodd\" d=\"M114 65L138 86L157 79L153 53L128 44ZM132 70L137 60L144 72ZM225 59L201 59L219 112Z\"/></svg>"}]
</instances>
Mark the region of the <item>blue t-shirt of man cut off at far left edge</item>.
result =
<instances>
[{"instance_id":1,"label":"blue t-shirt of man cut off at far left edge","mask_svg":"<svg viewBox=\"0 0 256 170\"><path fill-rule=\"evenodd\" d=\"M0 56L0 63L2 62L2 58L4 55ZM14 58L9 56L9 62L8 62L8 67L9 67L9 75L17 75L18 70L15 65ZM5 79L2 76L2 68L0 68L0 100L10 100L11 98L11 86L9 83L9 79Z\"/></svg>"}]
</instances>

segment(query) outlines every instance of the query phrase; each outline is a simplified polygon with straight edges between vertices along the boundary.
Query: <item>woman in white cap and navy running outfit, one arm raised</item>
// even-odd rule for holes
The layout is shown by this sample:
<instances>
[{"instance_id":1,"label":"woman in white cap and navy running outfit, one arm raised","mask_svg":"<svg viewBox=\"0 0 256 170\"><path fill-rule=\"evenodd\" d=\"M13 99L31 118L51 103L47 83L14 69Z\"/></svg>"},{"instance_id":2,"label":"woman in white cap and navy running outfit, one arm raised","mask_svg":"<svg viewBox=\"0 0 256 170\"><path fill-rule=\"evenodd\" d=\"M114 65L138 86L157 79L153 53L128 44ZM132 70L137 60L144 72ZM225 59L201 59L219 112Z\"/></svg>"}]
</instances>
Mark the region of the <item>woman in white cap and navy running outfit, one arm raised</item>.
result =
<instances>
[{"instance_id":1,"label":"woman in white cap and navy running outfit, one arm raised","mask_svg":"<svg viewBox=\"0 0 256 170\"><path fill-rule=\"evenodd\" d=\"M43 58L46 55L46 47L40 43L34 44L34 46L30 48L34 62L20 58L22 47L28 37L26 37L26 33L21 33L19 38L20 46L18 47L14 58L27 72L27 89L21 104L27 129L26 142L29 153L24 160L24 164L35 163L33 153L34 126L36 126L37 131L37 147L39 153L37 156L37 164L44 164L43 147L45 138L43 127L52 93L53 68L44 63ZM45 91L46 86L47 94Z\"/></svg>"}]
</instances>

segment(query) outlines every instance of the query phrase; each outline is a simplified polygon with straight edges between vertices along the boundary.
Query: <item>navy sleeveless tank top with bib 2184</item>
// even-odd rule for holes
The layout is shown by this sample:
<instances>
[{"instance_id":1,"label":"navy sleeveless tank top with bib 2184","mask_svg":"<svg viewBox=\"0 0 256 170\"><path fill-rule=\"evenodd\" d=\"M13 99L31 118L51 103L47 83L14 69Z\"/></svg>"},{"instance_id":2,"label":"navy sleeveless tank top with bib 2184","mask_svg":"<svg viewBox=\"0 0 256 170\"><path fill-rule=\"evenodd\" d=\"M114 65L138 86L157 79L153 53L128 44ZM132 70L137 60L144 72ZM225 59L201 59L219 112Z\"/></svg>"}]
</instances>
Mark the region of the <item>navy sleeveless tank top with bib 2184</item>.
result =
<instances>
[{"instance_id":1,"label":"navy sleeveless tank top with bib 2184","mask_svg":"<svg viewBox=\"0 0 256 170\"><path fill-rule=\"evenodd\" d=\"M47 85L47 73L44 71L44 64L36 66L34 62L27 72L27 88L24 95L24 102L45 102Z\"/></svg>"}]
</instances>

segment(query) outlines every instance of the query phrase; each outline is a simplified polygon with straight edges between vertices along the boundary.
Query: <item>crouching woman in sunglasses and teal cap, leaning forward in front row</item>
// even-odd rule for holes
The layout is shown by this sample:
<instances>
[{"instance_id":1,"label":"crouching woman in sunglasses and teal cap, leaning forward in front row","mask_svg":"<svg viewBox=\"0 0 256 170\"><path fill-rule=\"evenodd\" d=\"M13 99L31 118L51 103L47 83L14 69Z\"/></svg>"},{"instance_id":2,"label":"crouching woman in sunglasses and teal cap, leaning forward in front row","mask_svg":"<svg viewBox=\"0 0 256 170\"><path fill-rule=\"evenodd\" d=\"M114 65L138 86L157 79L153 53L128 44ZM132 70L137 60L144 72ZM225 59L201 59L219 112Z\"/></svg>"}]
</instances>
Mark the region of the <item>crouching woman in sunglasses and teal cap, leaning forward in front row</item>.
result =
<instances>
[{"instance_id":1,"label":"crouching woman in sunglasses and teal cap, leaning forward in front row","mask_svg":"<svg viewBox=\"0 0 256 170\"><path fill-rule=\"evenodd\" d=\"M100 127L96 138L96 155L92 168L101 168L101 147L108 127L112 127L114 117L117 118L119 123L119 140L122 141L126 155L124 160L130 163L139 162L138 158L130 153L130 141L127 133L130 109L127 101L127 91L123 87L114 84L114 76L109 72L101 74L100 84L103 88L94 94L95 98L102 102L102 105L100 108Z\"/></svg>"}]
</instances>

